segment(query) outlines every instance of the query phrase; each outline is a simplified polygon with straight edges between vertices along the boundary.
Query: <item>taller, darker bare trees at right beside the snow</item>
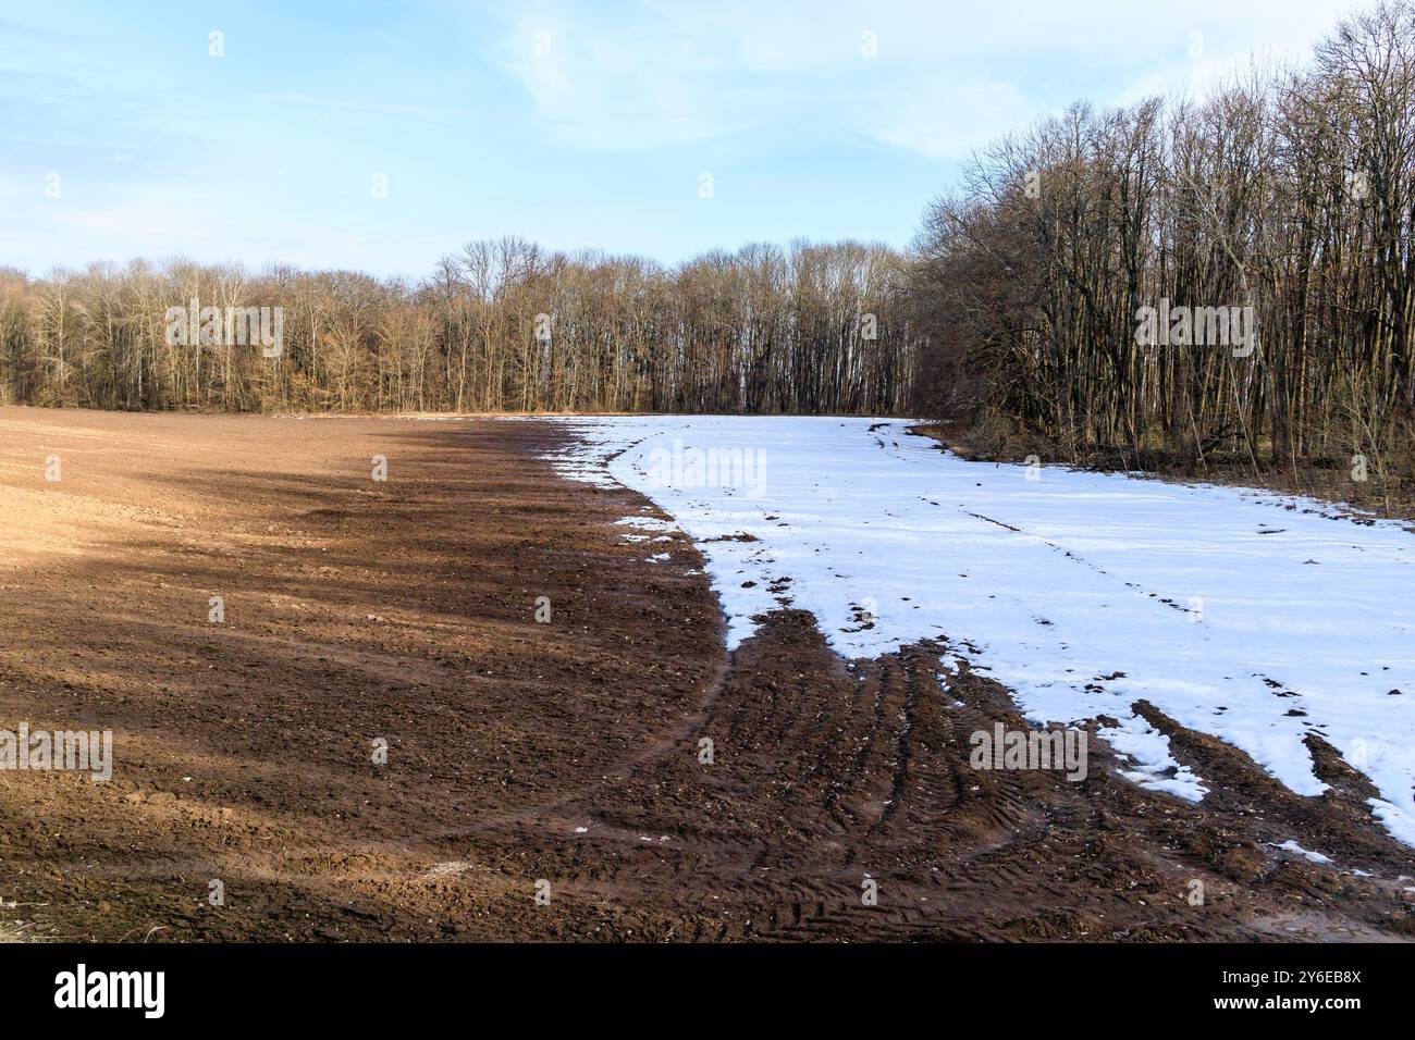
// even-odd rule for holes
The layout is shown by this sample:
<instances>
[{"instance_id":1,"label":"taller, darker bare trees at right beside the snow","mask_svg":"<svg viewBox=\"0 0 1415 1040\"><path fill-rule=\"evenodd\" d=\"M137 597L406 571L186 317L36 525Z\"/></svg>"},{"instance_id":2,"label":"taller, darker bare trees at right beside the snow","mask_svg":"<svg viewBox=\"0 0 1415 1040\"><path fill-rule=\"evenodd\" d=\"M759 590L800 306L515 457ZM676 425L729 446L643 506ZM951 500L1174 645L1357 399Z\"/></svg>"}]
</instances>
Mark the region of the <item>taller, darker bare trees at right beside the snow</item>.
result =
<instances>
[{"instance_id":1,"label":"taller, darker bare trees at right beside the snow","mask_svg":"<svg viewBox=\"0 0 1415 1040\"><path fill-rule=\"evenodd\" d=\"M1075 457L1381 471L1415 430L1412 225L1408 1L1200 100L1075 105L930 207L914 405Z\"/></svg>"}]
</instances>

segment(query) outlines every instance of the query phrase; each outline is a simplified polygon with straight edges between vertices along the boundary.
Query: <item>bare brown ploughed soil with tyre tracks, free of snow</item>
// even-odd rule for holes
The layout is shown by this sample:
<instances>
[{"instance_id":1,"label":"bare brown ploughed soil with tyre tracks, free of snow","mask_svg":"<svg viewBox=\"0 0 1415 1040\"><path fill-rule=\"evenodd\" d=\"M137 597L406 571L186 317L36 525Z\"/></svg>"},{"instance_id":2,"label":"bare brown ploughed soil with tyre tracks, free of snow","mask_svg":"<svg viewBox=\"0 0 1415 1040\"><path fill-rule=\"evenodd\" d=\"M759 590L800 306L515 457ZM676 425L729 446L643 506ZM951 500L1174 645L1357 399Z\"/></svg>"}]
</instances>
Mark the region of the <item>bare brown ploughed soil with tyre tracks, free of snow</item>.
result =
<instances>
[{"instance_id":1,"label":"bare brown ploughed soil with tyre tracks, free of snow","mask_svg":"<svg viewBox=\"0 0 1415 1040\"><path fill-rule=\"evenodd\" d=\"M1330 749L1300 798L1150 712L1200 807L1094 739L1084 782L975 771L1005 689L794 611L729 655L693 546L645 562L613 526L645 499L559 480L563 436L0 409L0 729L115 734L108 782L0 771L0 931L1415 937L1412 850Z\"/></svg>"}]
</instances>

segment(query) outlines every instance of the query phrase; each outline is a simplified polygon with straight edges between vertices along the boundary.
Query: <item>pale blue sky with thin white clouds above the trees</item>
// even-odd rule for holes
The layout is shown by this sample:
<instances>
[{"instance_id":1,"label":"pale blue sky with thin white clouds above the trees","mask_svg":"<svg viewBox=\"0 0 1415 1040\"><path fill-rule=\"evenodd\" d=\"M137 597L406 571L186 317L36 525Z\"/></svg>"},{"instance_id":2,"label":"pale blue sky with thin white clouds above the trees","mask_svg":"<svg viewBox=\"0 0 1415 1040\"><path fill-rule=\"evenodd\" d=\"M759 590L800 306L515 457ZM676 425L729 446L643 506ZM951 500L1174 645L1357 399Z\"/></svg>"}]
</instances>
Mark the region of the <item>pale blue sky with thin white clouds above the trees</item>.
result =
<instances>
[{"instance_id":1,"label":"pale blue sky with thin white clouds above the trees","mask_svg":"<svg viewBox=\"0 0 1415 1040\"><path fill-rule=\"evenodd\" d=\"M906 246L989 140L1305 61L1356 6L0 0L0 266Z\"/></svg>"}]
</instances>

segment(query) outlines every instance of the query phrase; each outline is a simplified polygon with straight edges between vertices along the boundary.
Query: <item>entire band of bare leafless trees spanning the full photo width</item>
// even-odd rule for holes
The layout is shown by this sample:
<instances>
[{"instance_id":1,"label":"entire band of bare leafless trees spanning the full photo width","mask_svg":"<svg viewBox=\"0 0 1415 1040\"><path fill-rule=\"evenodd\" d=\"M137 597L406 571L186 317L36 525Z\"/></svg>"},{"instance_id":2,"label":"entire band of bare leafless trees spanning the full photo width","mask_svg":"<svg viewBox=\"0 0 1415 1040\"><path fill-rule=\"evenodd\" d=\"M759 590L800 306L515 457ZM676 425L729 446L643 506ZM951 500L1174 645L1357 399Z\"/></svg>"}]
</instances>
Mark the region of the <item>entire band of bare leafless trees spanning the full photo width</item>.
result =
<instances>
[{"instance_id":1,"label":"entire band of bare leafless trees spanning the full photo width","mask_svg":"<svg viewBox=\"0 0 1415 1040\"><path fill-rule=\"evenodd\" d=\"M508 238L416 283L0 269L0 402L916 415L1073 458L1360 456L1385 480L1415 458L1412 231L1415 0L1391 0L1305 67L999 140L903 253L795 242L665 267ZM191 301L279 307L280 349L174 341Z\"/></svg>"}]
</instances>

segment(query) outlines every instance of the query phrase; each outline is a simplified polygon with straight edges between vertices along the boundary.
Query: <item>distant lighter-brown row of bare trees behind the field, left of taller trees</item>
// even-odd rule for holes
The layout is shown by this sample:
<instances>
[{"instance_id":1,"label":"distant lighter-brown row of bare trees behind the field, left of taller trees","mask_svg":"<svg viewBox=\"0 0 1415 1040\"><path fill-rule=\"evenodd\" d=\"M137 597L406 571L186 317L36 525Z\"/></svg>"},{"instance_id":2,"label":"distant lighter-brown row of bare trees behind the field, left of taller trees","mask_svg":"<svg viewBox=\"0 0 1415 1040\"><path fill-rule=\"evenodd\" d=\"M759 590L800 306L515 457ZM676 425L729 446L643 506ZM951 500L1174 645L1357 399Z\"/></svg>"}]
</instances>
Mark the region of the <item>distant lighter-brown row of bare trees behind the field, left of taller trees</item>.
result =
<instances>
[{"instance_id":1,"label":"distant lighter-brown row of bare trees behind the field, left of taller trees","mask_svg":"<svg viewBox=\"0 0 1415 1040\"><path fill-rule=\"evenodd\" d=\"M507 238L473 242L416 284L184 260L0 270L0 400L894 413L913 372L907 290L904 256L855 242L751 245L668 269ZM262 308L273 349L248 341Z\"/></svg>"}]
</instances>

